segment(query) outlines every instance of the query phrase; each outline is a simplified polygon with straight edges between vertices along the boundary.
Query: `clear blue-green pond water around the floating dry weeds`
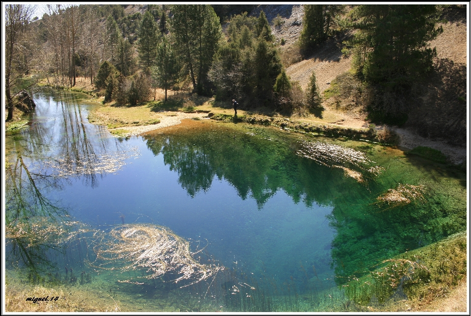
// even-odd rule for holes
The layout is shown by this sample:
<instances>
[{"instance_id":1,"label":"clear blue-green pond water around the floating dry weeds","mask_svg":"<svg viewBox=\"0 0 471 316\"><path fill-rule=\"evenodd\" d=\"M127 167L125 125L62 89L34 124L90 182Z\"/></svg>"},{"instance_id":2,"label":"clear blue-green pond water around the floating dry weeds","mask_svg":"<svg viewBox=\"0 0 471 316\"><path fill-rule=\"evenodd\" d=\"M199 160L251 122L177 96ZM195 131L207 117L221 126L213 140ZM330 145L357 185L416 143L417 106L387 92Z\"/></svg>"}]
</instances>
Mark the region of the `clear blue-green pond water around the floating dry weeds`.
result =
<instances>
[{"instance_id":1,"label":"clear blue-green pond water around the floating dry weeds","mask_svg":"<svg viewBox=\"0 0 471 316\"><path fill-rule=\"evenodd\" d=\"M94 246L105 241L93 232L65 243L8 239L6 267L25 282L109 289L136 311L330 311L348 299L348 277L466 229L466 175L399 150L210 120L118 139L87 122L95 105L84 95L45 91L34 100L29 129L5 141L7 225L32 232L44 218L73 220L103 236L120 224L161 225L193 252L204 248L200 262L225 269L180 289L170 277L142 278L145 269L97 268ZM300 157L304 140L354 149L368 165ZM381 174L366 172L371 166ZM424 185L424 200L377 203L399 184Z\"/></svg>"}]
</instances>

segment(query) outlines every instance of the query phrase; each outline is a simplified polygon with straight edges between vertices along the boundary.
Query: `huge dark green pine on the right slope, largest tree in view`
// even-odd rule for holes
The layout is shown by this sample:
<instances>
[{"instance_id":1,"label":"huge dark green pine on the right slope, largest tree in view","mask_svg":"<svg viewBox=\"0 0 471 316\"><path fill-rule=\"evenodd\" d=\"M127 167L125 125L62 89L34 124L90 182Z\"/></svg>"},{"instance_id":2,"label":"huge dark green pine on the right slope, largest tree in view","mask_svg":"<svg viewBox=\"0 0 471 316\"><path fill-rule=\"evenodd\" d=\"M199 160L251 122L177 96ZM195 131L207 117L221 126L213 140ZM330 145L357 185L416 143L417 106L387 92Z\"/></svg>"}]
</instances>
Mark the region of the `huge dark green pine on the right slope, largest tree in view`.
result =
<instances>
[{"instance_id":1,"label":"huge dark green pine on the right slope, largest tree in view","mask_svg":"<svg viewBox=\"0 0 471 316\"><path fill-rule=\"evenodd\" d=\"M370 117L389 123L407 118L412 87L433 69L435 49L427 47L441 31L435 5L360 5L351 12L354 37L344 53L371 88Z\"/></svg>"}]
</instances>

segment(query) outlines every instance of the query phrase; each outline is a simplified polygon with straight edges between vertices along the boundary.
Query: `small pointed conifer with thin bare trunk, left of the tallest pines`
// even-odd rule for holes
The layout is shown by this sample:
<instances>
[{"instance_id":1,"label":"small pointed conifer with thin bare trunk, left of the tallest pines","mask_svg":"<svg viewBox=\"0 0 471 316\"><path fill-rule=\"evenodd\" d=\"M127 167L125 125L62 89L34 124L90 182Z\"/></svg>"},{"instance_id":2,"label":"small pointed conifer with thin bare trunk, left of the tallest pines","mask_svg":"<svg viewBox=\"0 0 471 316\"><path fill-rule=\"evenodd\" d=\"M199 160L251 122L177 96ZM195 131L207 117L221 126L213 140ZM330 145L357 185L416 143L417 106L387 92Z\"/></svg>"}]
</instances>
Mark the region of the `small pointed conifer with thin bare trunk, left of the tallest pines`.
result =
<instances>
[{"instance_id":1,"label":"small pointed conifer with thin bare trunk, left of the tallest pines","mask_svg":"<svg viewBox=\"0 0 471 316\"><path fill-rule=\"evenodd\" d=\"M167 101L167 90L178 82L179 73L180 65L177 57L164 36L157 47L157 61L152 75L157 82L157 86L165 90L165 101Z\"/></svg>"}]
</instances>

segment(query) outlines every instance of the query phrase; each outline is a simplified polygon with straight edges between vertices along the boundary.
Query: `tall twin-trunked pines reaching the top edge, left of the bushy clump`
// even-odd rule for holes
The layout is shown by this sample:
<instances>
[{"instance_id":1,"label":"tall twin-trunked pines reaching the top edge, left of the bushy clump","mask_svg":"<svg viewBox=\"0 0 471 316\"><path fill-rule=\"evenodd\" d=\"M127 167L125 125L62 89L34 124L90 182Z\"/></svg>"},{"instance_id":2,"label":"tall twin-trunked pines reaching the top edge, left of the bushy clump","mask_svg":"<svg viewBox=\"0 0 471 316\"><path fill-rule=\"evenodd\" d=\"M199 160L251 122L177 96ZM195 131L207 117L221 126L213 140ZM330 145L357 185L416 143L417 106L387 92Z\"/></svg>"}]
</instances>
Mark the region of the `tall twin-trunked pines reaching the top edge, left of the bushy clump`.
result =
<instances>
[{"instance_id":1,"label":"tall twin-trunked pines reaching the top edge, left of the bushy clump","mask_svg":"<svg viewBox=\"0 0 471 316\"><path fill-rule=\"evenodd\" d=\"M207 74L222 38L219 19L207 4L176 4L172 5L171 11L171 33L179 60L190 76L193 90L198 94L208 94Z\"/></svg>"}]
</instances>

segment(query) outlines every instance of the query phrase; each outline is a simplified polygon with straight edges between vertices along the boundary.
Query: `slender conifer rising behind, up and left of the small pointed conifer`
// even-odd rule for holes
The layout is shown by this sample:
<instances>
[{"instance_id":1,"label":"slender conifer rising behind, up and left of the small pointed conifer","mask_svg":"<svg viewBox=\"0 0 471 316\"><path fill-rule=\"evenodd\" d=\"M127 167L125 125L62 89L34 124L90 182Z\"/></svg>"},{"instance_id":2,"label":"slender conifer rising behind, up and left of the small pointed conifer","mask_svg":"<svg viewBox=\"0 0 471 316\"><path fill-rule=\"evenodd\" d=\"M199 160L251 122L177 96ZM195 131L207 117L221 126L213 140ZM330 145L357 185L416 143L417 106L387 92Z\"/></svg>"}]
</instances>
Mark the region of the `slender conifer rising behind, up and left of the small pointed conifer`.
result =
<instances>
[{"instance_id":1,"label":"slender conifer rising behind, up and left of the small pointed conifer","mask_svg":"<svg viewBox=\"0 0 471 316\"><path fill-rule=\"evenodd\" d=\"M139 28L137 51L141 66L145 72L149 72L153 66L157 55L158 33L157 24L151 12L146 11L142 17L141 26Z\"/></svg>"}]
</instances>

